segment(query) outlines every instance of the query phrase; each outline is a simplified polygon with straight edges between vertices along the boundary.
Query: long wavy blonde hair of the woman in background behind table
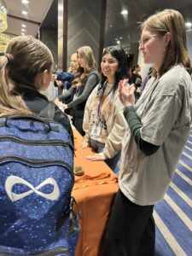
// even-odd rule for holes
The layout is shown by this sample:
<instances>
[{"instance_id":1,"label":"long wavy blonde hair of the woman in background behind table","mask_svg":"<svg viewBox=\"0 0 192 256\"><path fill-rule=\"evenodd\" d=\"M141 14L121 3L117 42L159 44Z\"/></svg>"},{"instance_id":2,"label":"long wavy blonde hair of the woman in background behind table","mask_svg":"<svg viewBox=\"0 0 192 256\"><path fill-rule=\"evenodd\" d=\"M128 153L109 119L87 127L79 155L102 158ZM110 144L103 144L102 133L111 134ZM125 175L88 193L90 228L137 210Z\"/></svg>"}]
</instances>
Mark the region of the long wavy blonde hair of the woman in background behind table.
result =
<instances>
[{"instance_id":1,"label":"long wavy blonde hair of the woman in background behind table","mask_svg":"<svg viewBox=\"0 0 192 256\"><path fill-rule=\"evenodd\" d=\"M77 50L77 54L84 57L85 67L79 67L78 73L73 79L73 86L80 87L86 83L90 72L96 70L96 59L90 46L82 46Z\"/></svg>"}]
</instances>

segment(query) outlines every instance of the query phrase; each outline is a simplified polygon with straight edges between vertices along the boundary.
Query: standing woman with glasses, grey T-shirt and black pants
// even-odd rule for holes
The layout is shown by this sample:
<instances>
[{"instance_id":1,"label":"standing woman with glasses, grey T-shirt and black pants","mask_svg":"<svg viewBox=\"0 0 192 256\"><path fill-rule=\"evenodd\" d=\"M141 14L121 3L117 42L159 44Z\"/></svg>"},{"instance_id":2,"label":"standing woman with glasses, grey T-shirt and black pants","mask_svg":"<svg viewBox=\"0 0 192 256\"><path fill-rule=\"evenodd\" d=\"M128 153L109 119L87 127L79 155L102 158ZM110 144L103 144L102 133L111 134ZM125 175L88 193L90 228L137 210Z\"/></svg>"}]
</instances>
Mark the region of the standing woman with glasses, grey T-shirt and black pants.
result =
<instances>
[{"instance_id":1,"label":"standing woman with glasses, grey T-shirt and black pants","mask_svg":"<svg viewBox=\"0 0 192 256\"><path fill-rule=\"evenodd\" d=\"M103 256L154 256L154 204L166 194L189 136L192 82L183 16L165 9L141 29L139 49L154 72L136 105L134 85L119 83L128 129Z\"/></svg>"}]
</instances>

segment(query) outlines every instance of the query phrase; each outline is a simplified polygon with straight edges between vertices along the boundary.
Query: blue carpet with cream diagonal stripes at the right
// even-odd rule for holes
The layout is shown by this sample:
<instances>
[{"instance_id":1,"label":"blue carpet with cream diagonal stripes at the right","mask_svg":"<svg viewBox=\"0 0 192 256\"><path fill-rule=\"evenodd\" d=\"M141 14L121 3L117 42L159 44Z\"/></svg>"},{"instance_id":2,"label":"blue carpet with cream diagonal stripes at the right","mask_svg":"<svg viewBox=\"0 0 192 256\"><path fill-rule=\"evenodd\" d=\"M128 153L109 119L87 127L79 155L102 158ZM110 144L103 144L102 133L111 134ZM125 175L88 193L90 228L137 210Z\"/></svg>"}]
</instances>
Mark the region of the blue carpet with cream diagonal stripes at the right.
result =
<instances>
[{"instance_id":1,"label":"blue carpet with cream diagonal stripes at the right","mask_svg":"<svg viewBox=\"0 0 192 256\"><path fill-rule=\"evenodd\" d=\"M163 201L154 207L156 256L192 256L192 129Z\"/></svg>"}]
</instances>

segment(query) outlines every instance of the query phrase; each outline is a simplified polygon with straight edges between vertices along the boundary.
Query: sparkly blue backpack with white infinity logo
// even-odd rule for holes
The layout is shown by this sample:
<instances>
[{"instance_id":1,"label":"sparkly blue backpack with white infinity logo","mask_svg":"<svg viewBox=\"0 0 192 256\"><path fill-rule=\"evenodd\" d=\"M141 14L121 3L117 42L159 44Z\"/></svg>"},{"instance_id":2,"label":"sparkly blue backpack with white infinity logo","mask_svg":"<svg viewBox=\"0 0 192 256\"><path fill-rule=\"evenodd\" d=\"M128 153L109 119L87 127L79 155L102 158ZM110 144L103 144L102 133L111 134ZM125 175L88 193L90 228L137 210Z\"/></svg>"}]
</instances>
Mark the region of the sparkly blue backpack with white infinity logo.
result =
<instances>
[{"instance_id":1,"label":"sparkly blue backpack with white infinity logo","mask_svg":"<svg viewBox=\"0 0 192 256\"><path fill-rule=\"evenodd\" d=\"M59 123L0 118L0 255L73 255L73 143Z\"/></svg>"}]
</instances>

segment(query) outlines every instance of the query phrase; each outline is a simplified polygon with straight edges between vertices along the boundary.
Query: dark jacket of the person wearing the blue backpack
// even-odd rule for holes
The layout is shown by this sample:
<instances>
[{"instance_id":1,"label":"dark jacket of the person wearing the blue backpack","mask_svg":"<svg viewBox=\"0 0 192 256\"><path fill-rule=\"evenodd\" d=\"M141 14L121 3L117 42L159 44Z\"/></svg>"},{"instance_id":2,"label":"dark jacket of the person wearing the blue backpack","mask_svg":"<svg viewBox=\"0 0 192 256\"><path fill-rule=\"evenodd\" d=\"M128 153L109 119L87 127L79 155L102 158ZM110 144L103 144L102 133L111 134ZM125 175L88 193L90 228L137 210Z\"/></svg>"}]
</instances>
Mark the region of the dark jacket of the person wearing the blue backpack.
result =
<instances>
[{"instance_id":1,"label":"dark jacket of the person wearing the blue backpack","mask_svg":"<svg viewBox=\"0 0 192 256\"><path fill-rule=\"evenodd\" d=\"M34 90L25 90L22 93L22 98L26 103L26 106L32 111L32 113L39 114L41 110L46 108L46 106L49 104L49 100L46 96ZM56 105L55 116L53 119L54 121L60 123L67 130L68 134L72 137L73 141L73 131L67 114L61 112L61 110Z\"/></svg>"}]
</instances>

